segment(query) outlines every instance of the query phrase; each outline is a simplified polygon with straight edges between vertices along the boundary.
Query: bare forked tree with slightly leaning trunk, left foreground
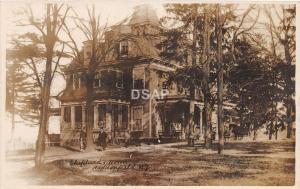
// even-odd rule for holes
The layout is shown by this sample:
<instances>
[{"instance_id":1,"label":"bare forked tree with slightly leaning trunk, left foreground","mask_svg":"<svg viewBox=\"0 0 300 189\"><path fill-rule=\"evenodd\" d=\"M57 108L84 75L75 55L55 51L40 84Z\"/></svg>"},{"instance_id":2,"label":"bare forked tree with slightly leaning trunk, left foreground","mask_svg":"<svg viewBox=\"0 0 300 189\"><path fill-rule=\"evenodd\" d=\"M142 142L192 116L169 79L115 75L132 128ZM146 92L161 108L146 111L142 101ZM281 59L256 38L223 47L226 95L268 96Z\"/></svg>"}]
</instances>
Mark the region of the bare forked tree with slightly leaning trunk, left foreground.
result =
<instances>
[{"instance_id":1,"label":"bare forked tree with slightly leaning trunk, left foreground","mask_svg":"<svg viewBox=\"0 0 300 189\"><path fill-rule=\"evenodd\" d=\"M18 43L23 43L23 45L37 45L43 51L41 54L44 62L42 80L38 79L40 75L37 73L35 62L32 61L32 65L28 64L41 86L40 99L42 103L39 118L40 126L35 153L35 165L37 168L41 168L44 162L45 137L49 119L50 89L53 77L59 67L59 62L64 56L64 45L58 42L61 28L69 11L69 7L64 9L63 5L58 6L57 4L46 4L45 8L46 13L43 15L43 18L36 17L31 7L24 9L26 23L19 25L23 27L29 26L34 32L27 33L23 36L26 40L17 40ZM61 49L58 50L59 47L61 47ZM29 53L34 53L34 51L29 51Z\"/></svg>"}]
</instances>

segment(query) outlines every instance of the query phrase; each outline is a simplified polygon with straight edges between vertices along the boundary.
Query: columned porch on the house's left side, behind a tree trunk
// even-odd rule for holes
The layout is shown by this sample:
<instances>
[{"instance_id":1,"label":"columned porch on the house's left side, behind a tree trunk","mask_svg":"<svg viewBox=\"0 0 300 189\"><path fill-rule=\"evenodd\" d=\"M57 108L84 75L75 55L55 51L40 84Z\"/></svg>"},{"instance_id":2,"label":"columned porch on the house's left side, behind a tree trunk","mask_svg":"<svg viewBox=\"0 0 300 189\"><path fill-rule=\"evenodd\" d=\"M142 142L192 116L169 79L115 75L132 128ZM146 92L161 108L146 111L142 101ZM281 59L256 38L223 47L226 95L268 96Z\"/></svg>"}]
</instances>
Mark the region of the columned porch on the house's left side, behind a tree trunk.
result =
<instances>
[{"instance_id":1,"label":"columned porch on the house's left side, behind a tree trunk","mask_svg":"<svg viewBox=\"0 0 300 189\"><path fill-rule=\"evenodd\" d=\"M100 127L109 142L125 139L129 132L129 103L121 101L94 101L93 141L96 143ZM61 105L61 146L79 146L80 132L86 129L85 103Z\"/></svg>"}]
</instances>

